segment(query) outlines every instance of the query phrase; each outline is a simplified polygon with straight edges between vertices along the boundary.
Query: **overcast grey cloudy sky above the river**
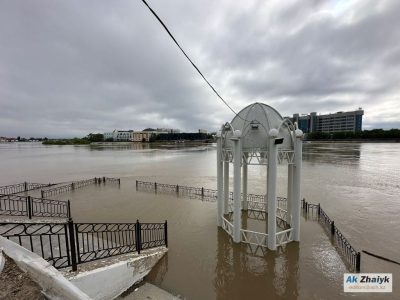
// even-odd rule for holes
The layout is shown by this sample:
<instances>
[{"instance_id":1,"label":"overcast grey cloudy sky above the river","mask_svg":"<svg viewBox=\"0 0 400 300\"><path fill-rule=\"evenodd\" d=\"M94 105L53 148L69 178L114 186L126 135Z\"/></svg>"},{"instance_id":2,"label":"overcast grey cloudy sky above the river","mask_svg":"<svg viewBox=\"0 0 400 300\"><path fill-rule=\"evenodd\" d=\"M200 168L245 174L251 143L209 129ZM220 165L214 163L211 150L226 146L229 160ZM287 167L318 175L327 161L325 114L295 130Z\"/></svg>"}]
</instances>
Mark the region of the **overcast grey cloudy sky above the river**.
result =
<instances>
[{"instance_id":1,"label":"overcast grey cloudy sky above the river","mask_svg":"<svg viewBox=\"0 0 400 300\"><path fill-rule=\"evenodd\" d=\"M221 96L400 127L400 1L148 0ZM0 0L0 136L216 130L234 114L140 0Z\"/></svg>"}]
</instances>

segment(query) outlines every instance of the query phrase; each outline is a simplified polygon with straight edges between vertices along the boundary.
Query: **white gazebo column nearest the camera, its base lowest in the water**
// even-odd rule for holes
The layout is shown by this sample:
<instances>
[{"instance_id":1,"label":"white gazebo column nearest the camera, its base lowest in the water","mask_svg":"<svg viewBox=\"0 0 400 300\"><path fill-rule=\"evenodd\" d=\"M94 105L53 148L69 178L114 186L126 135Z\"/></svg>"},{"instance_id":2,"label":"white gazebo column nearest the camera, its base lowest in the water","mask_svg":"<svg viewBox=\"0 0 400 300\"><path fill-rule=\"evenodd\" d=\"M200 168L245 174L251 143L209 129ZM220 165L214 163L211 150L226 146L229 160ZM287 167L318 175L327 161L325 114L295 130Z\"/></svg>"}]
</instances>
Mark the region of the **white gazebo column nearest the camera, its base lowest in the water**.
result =
<instances>
[{"instance_id":1,"label":"white gazebo column nearest the camera, its base lowest in the water","mask_svg":"<svg viewBox=\"0 0 400 300\"><path fill-rule=\"evenodd\" d=\"M268 249L276 249L276 186L278 176L278 145L275 138L278 130L271 129L268 150Z\"/></svg>"}]
</instances>

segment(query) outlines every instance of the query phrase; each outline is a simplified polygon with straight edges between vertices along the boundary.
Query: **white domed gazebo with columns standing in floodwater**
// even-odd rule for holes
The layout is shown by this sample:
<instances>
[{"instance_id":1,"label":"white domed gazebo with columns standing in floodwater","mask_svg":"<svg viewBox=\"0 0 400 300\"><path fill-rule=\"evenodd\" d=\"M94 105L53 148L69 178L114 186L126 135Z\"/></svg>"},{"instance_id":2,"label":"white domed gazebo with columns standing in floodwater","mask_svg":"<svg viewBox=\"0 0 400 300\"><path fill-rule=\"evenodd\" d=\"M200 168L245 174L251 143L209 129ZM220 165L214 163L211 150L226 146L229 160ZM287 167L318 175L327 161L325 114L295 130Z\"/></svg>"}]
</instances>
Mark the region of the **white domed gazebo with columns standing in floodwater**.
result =
<instances>
[{"instance_id":1,"label":"white domed gazebo with columns standing in floodwater","mask_svg":"<svg viewBox=\"0 0 400 300\"><path fill-rule=\"evenodd\" d=\"M300 240L302 135L297 123L283 119L274 108L263 103L245 107L217 132L217 222L234 242L275 250L277 246ZM230 163L234 169L233 224L224 217L230 212ZM277 205L276 193L277 168L284 164L288 165L287 198L279 200L287 202L286 209ZM267 166L266 197L261 201L248 199L248 165ZM268 233L242 229L241 211L260 210L260 203L268 214ZM285 221L290 229L277 233L277 218Z\"/></svg>"}]
</instances>

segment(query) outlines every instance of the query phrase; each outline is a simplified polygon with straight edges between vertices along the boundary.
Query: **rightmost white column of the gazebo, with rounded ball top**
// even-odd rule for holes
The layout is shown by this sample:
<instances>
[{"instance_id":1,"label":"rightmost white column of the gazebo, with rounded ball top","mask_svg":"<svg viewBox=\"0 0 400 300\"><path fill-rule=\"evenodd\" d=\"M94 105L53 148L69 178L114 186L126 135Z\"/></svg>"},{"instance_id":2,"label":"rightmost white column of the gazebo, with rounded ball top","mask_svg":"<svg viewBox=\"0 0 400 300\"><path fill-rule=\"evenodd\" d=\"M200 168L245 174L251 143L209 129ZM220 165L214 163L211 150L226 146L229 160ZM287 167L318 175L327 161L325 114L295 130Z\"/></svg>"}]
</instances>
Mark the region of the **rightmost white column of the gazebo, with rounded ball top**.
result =
<instances>
[{"instance_id":1,"label":"rightmost white column of the gazebo, with rounded ball top","mask_svg":"<svg viewBox=\"0 0 400 300\"><path fill-rule=\"evenodd\" d=\"M300 129L296 130L296 142L294 147L294 162L293 167L293 201L292 201L292 221L294 228L293 239L300 241L300 199L301 199L301 160L303 141L301 139L303 132Z\"/></svg>"}]
</instances>

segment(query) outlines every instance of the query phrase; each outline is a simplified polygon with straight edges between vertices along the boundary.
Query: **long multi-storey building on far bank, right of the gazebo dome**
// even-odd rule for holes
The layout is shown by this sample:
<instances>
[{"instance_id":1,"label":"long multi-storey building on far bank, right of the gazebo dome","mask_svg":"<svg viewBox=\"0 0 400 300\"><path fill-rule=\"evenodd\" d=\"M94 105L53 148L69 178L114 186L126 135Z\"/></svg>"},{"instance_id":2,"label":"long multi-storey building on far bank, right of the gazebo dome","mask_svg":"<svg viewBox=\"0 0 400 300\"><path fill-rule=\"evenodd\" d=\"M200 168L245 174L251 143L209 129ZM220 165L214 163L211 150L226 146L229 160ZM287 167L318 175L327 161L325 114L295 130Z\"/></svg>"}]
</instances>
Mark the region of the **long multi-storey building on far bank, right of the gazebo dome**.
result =
<instances>
[{"instance_id":1,"label":"long multi-storey building on far bank, right of the gazebo dome","mask_svg":"<svg viewBox=\"0 0 400 300\"><path fill-rule=\"evenodd\" d=\"M360 108L356 111L338 111L337 113L327 115L317 115L312 112L309 115L293 114L291 121L297 122L299 128L304 133L312 132L357 132L362 131L362 116L364 111Z\"/></svg>"}]
</instances>

